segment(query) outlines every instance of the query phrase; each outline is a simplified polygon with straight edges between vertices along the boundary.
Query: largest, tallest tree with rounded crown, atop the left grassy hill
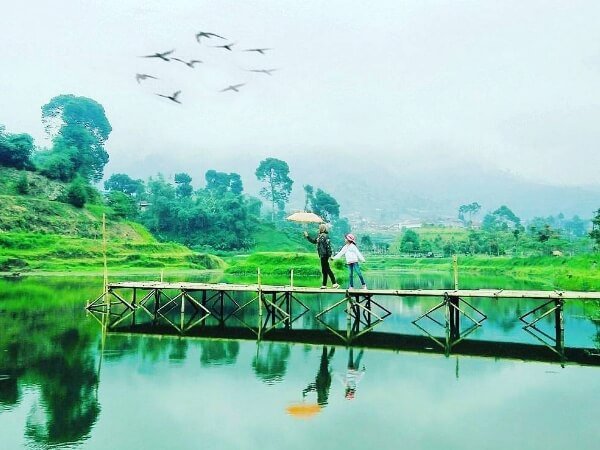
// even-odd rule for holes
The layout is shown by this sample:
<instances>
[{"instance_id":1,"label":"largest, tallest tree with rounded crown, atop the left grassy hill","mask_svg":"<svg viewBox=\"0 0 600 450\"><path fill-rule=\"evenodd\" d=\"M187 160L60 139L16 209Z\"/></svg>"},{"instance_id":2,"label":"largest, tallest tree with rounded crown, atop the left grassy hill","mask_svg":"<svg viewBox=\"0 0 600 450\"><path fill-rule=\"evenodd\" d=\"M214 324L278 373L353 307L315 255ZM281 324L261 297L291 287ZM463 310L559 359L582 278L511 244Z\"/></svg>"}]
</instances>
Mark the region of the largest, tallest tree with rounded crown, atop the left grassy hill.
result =
<instances>
[{"instance_id":1,"label":"largest, tallest tree with rounded crown, atop the left grassy hill","mask_svg":"<svg viewBox=\"0 0 600 450\"><path fill-rule=\"evenodd\" d=\"M53 149L76 149L69 155L76 173L87 181L102 179L108 163L104 142L112 131L102 105L87 97L59 95L42 106L42 122Z\"/></svg>"}]
</instances>

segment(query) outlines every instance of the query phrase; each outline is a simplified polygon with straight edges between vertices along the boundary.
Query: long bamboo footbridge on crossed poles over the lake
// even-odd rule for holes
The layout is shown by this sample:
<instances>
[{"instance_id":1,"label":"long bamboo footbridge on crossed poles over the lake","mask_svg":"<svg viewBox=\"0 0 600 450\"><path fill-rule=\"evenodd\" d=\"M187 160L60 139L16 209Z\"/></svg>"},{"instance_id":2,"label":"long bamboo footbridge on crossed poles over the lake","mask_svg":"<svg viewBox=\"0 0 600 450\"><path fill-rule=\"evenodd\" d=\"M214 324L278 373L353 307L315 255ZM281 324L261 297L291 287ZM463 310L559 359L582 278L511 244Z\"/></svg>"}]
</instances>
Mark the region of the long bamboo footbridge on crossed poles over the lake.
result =
<instances>
[{"instance_id":1,"label":"long bamboo footbridge on crossed poles over the lake","mask_svg":"<svg viewBox=\"0 0 600 450\"><path fill-rule=\"evenodd\" d=\"M322 295L332 297L334 300L323 309L320 302L312 301L315 296ZM194 335L202 326L206 330L210 320L216 321L223 328L226 321L236 318L243 324L246 332L258 340L265 339L265 336L268 336L268 339L274 338L281 334L282 329L292 330L294 323L300 317L312 311L315 319L321 322L334 339L341 340L346 345L360 345L361 342L364 344L379 336L381 333L373 332L373 328L392 314L381 303L381 299L385 297L439 298L439 303L416 317L412 323L447 355L459 342L465 342L465 338L482 326L482 322L487 318L483 311L471 304L472 299L540 300L538 306L519 317L524 324L524 330L538 339L544 348L550 349L555 358L564 361L570 357L582 363L584 360L590 363L589 358L581 356L583 350L565 349L563 307L569 300L599 301L600 292L504 289L320 289L260 283L242 285L125 281L106 283L104 292L89 303L87 309L102 315L101 321L107 330L140 329L137 316L138 312L141 312L154 326L165 325L173 333L181 335ZM258 320L254 324L248 324L240 319L240 313L251 307L257 310ZM336 308L344 308L345 330L331 326L326 320L327 314ZM443 319L435 317L436 311L443 312ZM552 335L537 326L539 321L547 316L554 319ZM460 325L461 317L469 324L463 330ZM130 323L125 326L129 318ZM424 326L425 322L438 326L439 330L443 331L444 337L428 331ZM146 330L146 325L143 324L141 329ZM305 335L307 333L310 335L307 330L296 331L303 331ZM367 333L369 333L368 337ZM393 333L384 334L387 336L385 340L382 341L381 337L376 339L379 346L385 347L385 341L397 342L398 336L403 336L396 335L394 338ZM405 337L403 342L407 342L407 339L411 341L412 338ZM469 341L468 345L463 344L462 347L479 348L479 344L474 342ZM519 352L523 351L520 347L523 345L527 344L517 344ZM586 351L587 354L592 355L591 360L600 364L600 357L596 356L597 350Z\"/></svg>"}]
</instances>

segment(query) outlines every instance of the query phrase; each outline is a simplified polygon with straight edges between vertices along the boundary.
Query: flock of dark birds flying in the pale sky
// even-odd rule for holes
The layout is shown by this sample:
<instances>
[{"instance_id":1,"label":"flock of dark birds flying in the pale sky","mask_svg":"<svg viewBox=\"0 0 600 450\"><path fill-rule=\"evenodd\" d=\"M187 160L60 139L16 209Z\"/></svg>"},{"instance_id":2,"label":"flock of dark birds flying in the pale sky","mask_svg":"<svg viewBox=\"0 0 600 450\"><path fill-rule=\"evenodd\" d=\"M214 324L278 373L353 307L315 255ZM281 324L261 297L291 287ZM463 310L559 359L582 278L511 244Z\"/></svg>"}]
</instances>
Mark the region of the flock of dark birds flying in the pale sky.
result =
<instances>
[{"instance_id":1,"label":"flock of dark birds flying in the pale sky","mask_svg":"<svg viewBox=\"0 0 600 450\"><path fill-rule=\"evenodd\" d=\"M205 38L205 39L217 38L217 39L222 39L224 41L228 41L228 39L224 38L223 36L219 36L218 34L211 33L208 31L199 31L198 33L196 33L196 41L198 42L198 44L201 44L202 38ZM227 44L223 44L223 45L213 45L212 47L213 48L222 48L223 50L232 52L233 51L232 47L234 45L236 45L235 42L227 43ZM271 48L247 48L242 51L255 52L255 53L264 55L269 50L272 50L272 49ZM175 56L173 56L173 53L175 53L175 49L169 50L166 52L162 52L162 53L157 52L157 53L153 53L151 55L143 55L143 56L140 56L140 58L156 58L158 60L162 60L165 62L177 61L179 63L185 64L186 66L188 66L191 69L194 69L197 64L203 63L203 61L201 61L199 59L192 59L192 60L186 61L181 58L176 58ZM275 72L276 70L277 69L247 69L248 72L263 73L265 75L272 75L273 72ZM147 74L147 73L136 73L135 79L138 84L141 84L142 81L145 81L147 79L158 80L159 78L154 75ZM227 91L239 92L240 88L245 85L246 85L246 83L231 84L231 85L227 86L226 88L221 89L219 92L227 92ZM173 94L171 94L171 95L158 94L158 93L156 95L158 95L159 97L169 99L172 102L181 104L181 101L179 100L180 94L181 94L181 91L179 90L179 91L173 92Z\"/></svg>"}]
</instances>

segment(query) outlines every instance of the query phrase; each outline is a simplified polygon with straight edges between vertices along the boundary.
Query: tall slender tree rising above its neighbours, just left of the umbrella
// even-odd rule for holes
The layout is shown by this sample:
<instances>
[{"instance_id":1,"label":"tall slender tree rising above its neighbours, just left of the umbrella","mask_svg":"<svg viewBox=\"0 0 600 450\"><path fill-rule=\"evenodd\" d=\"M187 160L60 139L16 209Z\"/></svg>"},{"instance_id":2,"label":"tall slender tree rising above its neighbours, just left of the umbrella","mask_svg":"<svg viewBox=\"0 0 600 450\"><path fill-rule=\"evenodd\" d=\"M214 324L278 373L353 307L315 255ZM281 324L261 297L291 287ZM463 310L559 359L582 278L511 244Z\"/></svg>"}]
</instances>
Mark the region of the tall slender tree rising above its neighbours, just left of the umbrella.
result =
<instances>
[{"instance_id":1,"label":"tall slender tree rising above its neighbours, just left of the umbrella","mask_svg":"<svg viewBox=\"0 0 600 450\"><path fill-rule=\"evenodd\" d=\"M256 169L256 178L267 185L260 190L260 195L271 202L271 220L275 220L275 205L283 211L294 183L290 177L290 168L285 161L267 158L260 162Z\"/></svg>"}]
</instances>

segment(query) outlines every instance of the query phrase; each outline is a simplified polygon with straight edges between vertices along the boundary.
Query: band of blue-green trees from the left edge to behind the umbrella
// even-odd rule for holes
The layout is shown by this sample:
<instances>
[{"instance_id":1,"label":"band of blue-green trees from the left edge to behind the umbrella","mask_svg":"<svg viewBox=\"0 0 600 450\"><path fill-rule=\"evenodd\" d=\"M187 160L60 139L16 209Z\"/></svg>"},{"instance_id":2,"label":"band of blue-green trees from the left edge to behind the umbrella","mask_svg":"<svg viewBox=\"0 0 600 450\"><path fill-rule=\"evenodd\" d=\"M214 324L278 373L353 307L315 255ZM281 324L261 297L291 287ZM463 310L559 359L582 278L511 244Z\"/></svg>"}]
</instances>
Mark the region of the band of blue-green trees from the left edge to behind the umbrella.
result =
<instances>
[{"instance_id":1,"label":"band of blue-green trees from the left edge to behind the umbrella","mask_svg":"<svg viewBox=\"0 0 600 450\"><path fill-rule=\"evenodd\" d=\"M8 133L0 125L1 166L65 183L65 193L58 200L78 208L86 203L105 205L113 219L140 222L164 240L216 250L252 246L252 232L265 220L262 201L244 193L239 174L211 169L204 174L204 187L194 189L192 176L184 172L175 174L172 182L161 174L143 181L116 173L100 192L94 184L104 178L109 161L104 144L112 131L102 105L86 97L59 95L41 110L51 147L36 148L30 135ZM294 183L288 164L266 158L258 164L255 176L263 183L259 196L270 206L270 221L297 231L284 221ZM27 183L26 176L19 178L17 192L27 194ZM338 223L339 234L349 229L339 217L335 198L310 185L304 188L307 210Z\"/></svg>"}]
</instances>

